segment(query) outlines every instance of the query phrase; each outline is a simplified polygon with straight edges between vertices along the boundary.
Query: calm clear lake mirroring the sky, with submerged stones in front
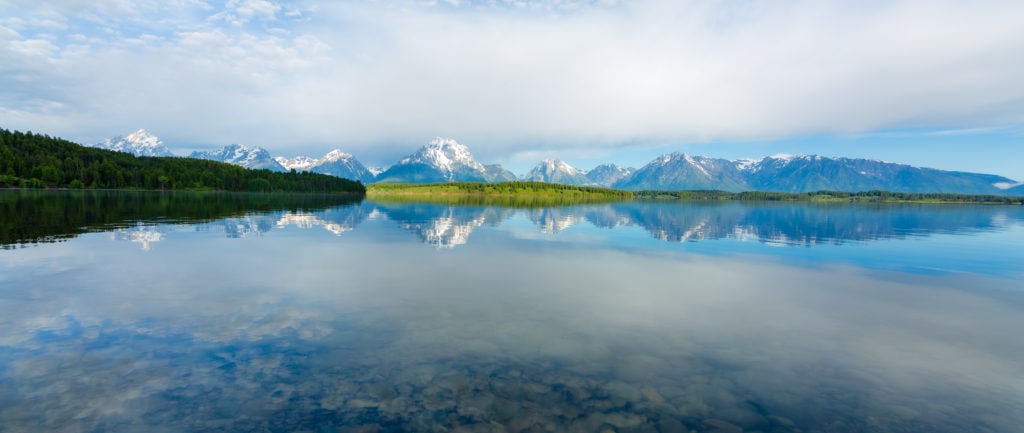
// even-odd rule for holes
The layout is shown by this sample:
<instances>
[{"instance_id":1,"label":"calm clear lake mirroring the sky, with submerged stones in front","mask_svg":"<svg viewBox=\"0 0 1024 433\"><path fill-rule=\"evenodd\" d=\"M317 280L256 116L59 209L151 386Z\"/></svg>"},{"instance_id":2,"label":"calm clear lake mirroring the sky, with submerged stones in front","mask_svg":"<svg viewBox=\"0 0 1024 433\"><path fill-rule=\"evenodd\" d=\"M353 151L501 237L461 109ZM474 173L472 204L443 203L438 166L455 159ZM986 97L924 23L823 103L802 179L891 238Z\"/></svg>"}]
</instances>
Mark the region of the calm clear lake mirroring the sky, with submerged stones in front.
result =
<instances>
[{"instance_id":1,"label":"calm clear lake mirroring the sky, with submerged stones in front","mask_svg":"<svg viewBox=\"0 0 1024 433\"><path fill-rule=\"evenodd\" d=\"M0 191L2 432L1020 432L1024 207Z\"/></svg>"}]
</instances>

